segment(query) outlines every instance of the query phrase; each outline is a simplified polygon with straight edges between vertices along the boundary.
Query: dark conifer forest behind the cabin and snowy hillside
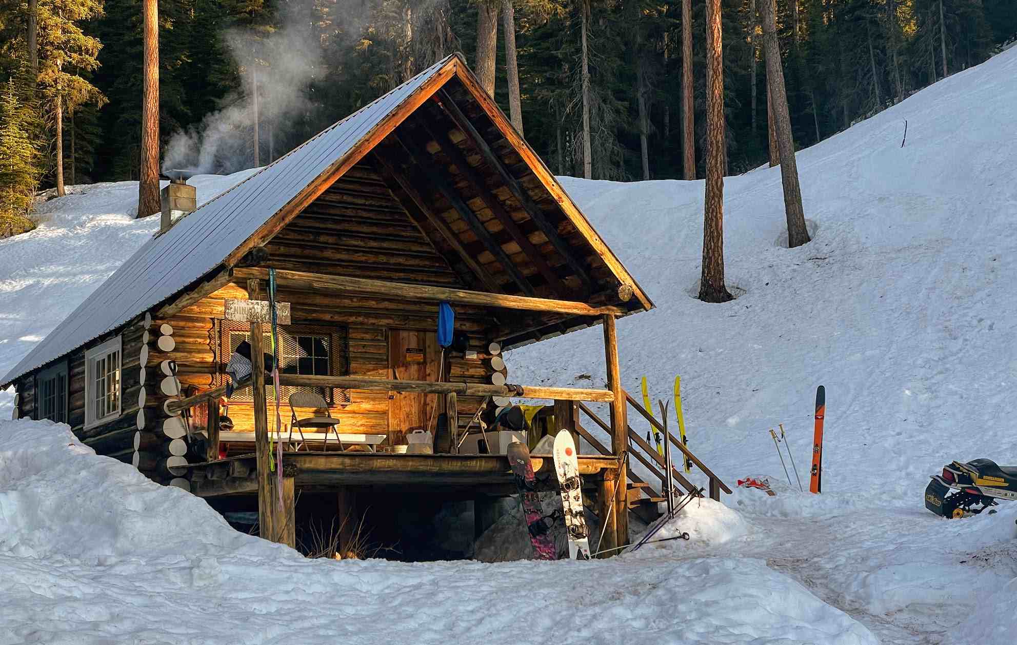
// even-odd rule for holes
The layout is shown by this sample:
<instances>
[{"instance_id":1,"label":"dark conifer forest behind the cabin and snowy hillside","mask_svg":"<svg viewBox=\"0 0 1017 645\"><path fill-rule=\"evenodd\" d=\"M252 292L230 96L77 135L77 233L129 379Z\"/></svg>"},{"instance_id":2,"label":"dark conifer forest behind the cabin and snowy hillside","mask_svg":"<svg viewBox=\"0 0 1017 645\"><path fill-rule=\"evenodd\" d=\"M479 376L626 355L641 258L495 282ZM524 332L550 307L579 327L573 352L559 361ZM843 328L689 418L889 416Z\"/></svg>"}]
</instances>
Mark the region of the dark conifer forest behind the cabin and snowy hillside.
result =
<instances>
[{"instance_id":1,"label":"dark conifer forest behind the cabin and snowy hillside","mask_svg":"<svg viewBox=\"0 0 1017 645\"><path fill-rule=\"evenodd\" d=\"M775 18L796 149L1017 37L1017 0L767 2L719 0L728 175L778 155L761 16ZM37 190L138 179L143 4L0 0L0 229ZM267 164L461 51L555 174L702 178L708 4L164 0L160 163Z\"/></svg>"}]
</instances>

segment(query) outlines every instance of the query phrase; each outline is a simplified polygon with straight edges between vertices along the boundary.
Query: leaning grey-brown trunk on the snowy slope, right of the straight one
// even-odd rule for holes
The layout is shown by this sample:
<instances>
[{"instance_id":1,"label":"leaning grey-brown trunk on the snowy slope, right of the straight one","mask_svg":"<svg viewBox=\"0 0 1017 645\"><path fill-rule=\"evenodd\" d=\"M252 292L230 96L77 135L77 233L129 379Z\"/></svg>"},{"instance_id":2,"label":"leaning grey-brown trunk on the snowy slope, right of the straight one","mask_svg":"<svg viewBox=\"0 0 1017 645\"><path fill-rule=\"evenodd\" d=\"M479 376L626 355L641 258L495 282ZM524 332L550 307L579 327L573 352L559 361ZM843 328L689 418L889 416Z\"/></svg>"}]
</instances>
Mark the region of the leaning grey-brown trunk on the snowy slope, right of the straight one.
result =
<instances>
[{"instance_id":1,"label":"leaning grey-brown trunk on the snowy slope, right of the straight one","mask_svg":"<svg viewBox=\"0 0 1017 645\"><path fill-rule=\"evenodd\" d=\"M764 0L763 49L766 52L767 85L773 98L774 124L777 144L780 148L780 178L784 184L784 212L787 215L787 245L791 248L809 241L805 214L801 208L801 187L798 185L798 167L794 159L794 140L791 137L791 118L787 110L784 91L784 71L780 66L780 46L777 43L777 23L774 3Z\"/></svg>"}]
</instances>

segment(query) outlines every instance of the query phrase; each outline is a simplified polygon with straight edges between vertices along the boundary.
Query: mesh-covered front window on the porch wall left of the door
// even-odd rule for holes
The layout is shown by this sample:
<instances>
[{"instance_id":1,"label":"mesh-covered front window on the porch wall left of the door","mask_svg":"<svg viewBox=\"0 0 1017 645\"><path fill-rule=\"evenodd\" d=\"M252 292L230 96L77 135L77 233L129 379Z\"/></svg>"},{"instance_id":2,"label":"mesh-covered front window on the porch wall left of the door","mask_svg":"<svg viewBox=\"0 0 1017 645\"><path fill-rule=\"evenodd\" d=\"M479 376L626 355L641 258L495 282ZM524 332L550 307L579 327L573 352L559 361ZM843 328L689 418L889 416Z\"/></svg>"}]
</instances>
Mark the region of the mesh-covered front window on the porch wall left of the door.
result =
<instances>
[{"instance_id":1,"label":"mesh-covered front window on the porch wall left of the door","mask_svg":"<svg viewBox=\"0 0 1017 645\"><path fill-rule=\"evenodd\" d=\"M350 373L349 337L346 328L287 325L279 329L280 372L314 376L346 376ZM230 355L243 341L250 339L250 326L232 320L223 321L221 361L229 362ZM262 327L261 347L272 353L272 329ZM330 405L350 403L350 391L340 388L297 388L284 386L280 401L285 405L290 395L308 391L320 394ZM274 401L276 394L271 384L265 384L265 397ZM251 401L250 390L237 393L231 399Z\"/></svg>"}]
</instances>

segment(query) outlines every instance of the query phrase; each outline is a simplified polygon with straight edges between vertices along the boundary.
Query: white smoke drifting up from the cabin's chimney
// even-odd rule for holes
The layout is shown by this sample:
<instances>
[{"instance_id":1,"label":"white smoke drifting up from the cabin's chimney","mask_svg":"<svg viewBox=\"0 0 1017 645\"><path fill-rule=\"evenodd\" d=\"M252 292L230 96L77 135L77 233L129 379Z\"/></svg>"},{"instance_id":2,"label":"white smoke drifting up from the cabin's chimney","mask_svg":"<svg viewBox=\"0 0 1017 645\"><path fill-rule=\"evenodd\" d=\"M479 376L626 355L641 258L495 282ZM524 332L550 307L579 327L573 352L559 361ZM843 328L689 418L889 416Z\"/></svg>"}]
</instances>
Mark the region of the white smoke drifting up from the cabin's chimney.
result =
<instances>
[{"instance_id":1,"label":"white smoke drifting up from the cabin's chimney","mask_svg":"<svg viewBox=\"0 0 1017 645\"><path fill-rule=\"evenodd\" d=\"M270 150L273 133L287 129L292 115L310 108L307 87L321 68L321 51L309 21L288 19L267 35L231 30L224 41L239 67L242 87L227 96L224 107L199 125L173 135L164 151L164 171L228 174L253 166L255 96L259 162L267 164L272 154L287 152Z\"/></svg>"}]
</instances>

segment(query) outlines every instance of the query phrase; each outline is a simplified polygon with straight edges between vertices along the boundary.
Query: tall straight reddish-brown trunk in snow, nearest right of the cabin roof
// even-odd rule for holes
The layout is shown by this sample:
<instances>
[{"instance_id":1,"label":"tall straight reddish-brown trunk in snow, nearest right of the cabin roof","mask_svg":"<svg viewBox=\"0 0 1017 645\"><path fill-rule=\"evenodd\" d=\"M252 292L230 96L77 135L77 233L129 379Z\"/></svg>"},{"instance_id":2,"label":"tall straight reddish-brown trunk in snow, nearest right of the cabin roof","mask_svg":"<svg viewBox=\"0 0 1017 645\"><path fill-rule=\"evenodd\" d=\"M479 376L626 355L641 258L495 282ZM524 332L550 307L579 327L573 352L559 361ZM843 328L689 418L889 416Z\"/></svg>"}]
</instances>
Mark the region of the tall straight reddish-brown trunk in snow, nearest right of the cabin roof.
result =
<instances>
[{"instance_id":1,"label":"tall straight reddish-brown trunk in snow, nearest right of the cabin roof","mask_svg":"<svg viewBox=\"0 0 1017 645\"><path fill-rule=\"evenodd\" d=\"M720 0L706 0L706 198L700 300L727 302L724 286L724 55Z\"/></svg>"}]
</instances>

